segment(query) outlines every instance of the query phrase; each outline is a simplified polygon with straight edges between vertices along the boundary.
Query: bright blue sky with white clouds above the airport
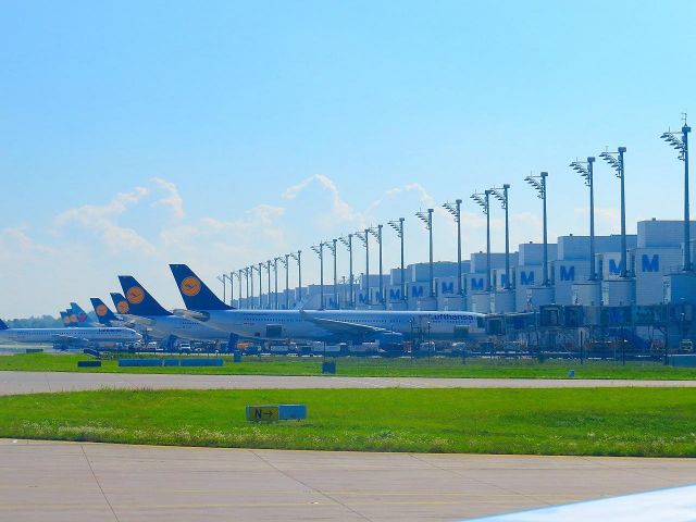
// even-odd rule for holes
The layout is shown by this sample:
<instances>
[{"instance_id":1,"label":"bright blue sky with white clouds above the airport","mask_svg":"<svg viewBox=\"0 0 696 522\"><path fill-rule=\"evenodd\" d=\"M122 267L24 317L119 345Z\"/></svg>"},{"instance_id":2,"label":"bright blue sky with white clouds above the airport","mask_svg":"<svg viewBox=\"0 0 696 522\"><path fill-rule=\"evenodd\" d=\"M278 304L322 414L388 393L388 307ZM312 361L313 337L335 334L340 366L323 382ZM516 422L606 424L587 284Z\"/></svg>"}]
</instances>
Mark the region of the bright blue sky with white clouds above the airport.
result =
<instances>
[{"instance_id":1,"label":"bright blue sky with white clouds above the airport","mask_svg":"<svg viewBox=\"0 0 696 522\"><path fill-rule=\"evenodd\" d=\"M693 2L1 7L3 318L86 306L126 272L179 306L167 262L212 278L399 215L408 260L424 260L413 212L456 197L478 250L468 196L502 183L513 244L537 240L522 179L542 170L551 234L583 234L567 165L619 145L629 231L681 216L681 165L658 136L696 111ZM618 232L604 165L596 186L598 232ZM453 259L452 234L437 214L436 259Z\"/></svg>"}]
</instances>

